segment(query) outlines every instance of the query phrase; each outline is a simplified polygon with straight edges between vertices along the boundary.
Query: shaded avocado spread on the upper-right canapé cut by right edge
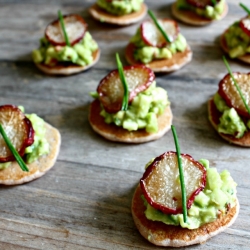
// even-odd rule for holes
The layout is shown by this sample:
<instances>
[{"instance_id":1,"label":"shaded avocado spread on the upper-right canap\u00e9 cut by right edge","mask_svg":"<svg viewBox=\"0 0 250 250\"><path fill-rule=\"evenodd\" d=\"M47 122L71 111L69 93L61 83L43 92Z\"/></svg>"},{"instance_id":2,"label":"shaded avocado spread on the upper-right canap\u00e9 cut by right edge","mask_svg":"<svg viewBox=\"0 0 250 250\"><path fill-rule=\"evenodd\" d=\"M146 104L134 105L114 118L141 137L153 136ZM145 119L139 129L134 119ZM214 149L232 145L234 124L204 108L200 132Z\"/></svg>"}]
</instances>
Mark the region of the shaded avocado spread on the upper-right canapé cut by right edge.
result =
<instances>
[{"instance_id":1,"label":"shaded avocado spread on the upper-right canap\u00e9 cut by right edge","mask_svg":"<svg viewBox=\"0 0 250 250\"><path fill-rule=\"evenodd\" d=\"M228 54L231 58L250 53L250 36L241 29L239 23L239 21L233 23L224 36L228 48Z\"/></svg>"}]
</instances>

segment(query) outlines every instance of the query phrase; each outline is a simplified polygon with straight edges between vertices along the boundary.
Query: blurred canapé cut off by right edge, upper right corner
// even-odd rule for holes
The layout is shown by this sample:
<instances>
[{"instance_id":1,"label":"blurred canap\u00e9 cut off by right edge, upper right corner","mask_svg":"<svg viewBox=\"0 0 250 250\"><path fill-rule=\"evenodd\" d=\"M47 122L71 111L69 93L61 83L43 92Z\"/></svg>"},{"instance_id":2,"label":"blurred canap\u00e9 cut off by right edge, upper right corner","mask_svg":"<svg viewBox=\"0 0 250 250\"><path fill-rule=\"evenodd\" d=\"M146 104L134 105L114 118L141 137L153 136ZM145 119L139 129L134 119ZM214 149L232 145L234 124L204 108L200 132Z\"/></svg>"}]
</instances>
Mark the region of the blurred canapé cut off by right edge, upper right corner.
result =
<instances>
[{"instance_id":1,"label":"blurred canap\u00e9 cut off by right edge, upper right corner","mask_svg":"<svg viewBox=\"0 0 250 250\"><path fill-rule=\"evenodd\" d=\"M250 63L250 11L246 17L229 26L222 34L220 44L230 58Z\"/></svg>"}]
</instances>

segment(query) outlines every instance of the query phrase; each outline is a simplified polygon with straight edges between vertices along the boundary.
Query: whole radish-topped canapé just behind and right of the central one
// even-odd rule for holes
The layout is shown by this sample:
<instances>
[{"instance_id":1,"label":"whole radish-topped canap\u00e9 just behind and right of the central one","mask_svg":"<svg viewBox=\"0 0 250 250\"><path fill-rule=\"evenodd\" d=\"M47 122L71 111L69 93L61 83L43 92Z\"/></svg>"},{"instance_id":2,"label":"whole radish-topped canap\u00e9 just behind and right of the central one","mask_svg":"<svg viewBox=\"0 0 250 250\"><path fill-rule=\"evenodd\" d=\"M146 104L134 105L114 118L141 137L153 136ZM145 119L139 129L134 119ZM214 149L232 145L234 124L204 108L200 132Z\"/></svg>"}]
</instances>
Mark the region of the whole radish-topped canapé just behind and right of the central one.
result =
<instances>
[{"instance_id":1,"label":"whole radish-topped canap\u00e9 just behind and right of the central one","mask_svg":"<svg viewBox=\"0 0 250 250\"><path fill-rule=\"evenodd\" d=\"M154 72L171 72L191 61L192 51L174 20L146 20L127 45L125 57L131 65L145 64Z\"/></svg>"}]
</instances>

